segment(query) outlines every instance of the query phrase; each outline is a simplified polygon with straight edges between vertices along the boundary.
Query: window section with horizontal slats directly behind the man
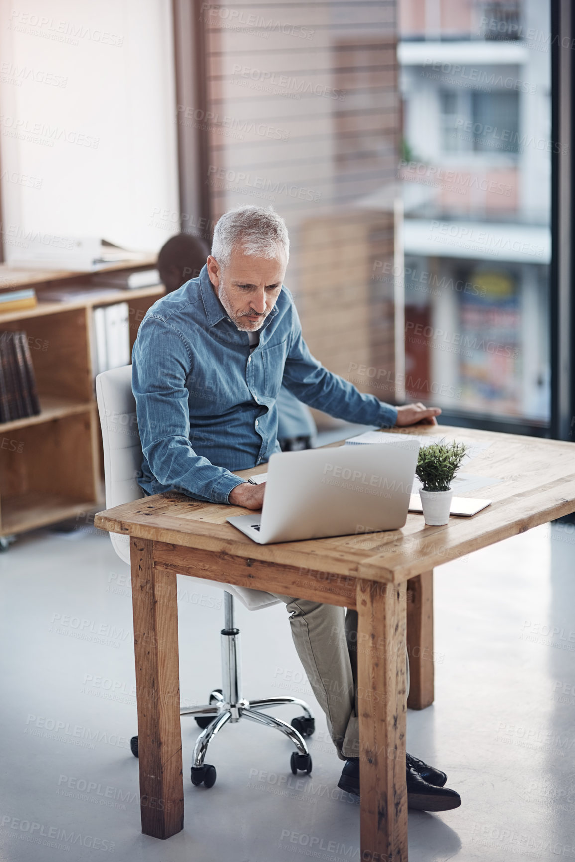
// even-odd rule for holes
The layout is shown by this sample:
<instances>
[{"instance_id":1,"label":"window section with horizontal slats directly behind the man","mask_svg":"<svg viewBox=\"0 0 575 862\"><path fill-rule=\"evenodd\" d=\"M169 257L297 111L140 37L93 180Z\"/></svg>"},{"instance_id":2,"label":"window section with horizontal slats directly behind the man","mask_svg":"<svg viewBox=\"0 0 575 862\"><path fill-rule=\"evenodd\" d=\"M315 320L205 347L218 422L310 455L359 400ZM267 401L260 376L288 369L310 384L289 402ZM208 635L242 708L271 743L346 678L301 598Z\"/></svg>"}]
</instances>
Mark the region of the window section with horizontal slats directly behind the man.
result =
<instances>
[{"instance_id":1,"label":"window section with horizontal slats directly behind the man","mask_svg":"<svg viewBox=\"0 0 575 862\"><path fill-rule=\"evenodd\" d=\"M310 350L359 389L403 397L394 5L240 9L203 4L212 218L241 203L284 215Z\"/></svg>"}]
</instances>

